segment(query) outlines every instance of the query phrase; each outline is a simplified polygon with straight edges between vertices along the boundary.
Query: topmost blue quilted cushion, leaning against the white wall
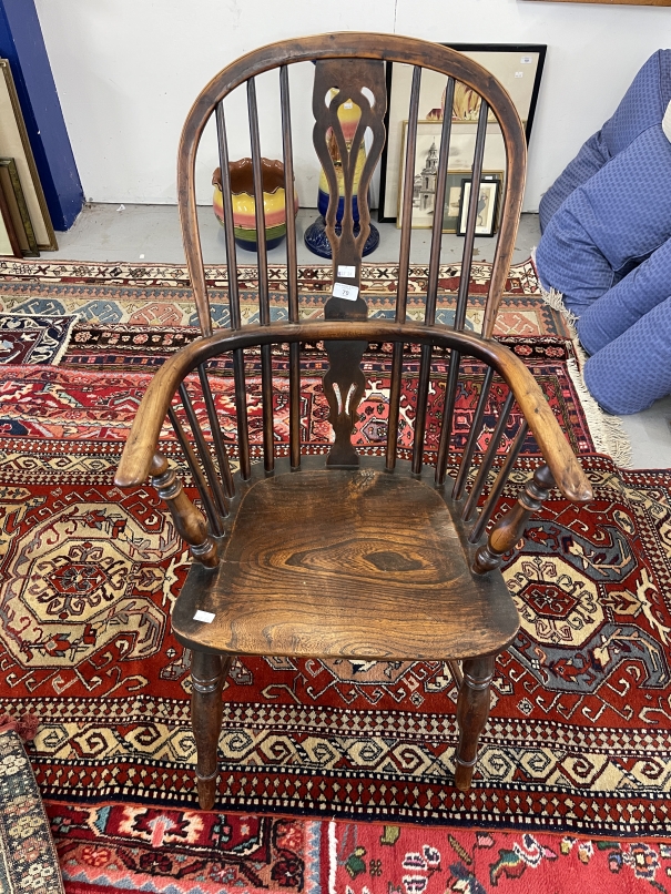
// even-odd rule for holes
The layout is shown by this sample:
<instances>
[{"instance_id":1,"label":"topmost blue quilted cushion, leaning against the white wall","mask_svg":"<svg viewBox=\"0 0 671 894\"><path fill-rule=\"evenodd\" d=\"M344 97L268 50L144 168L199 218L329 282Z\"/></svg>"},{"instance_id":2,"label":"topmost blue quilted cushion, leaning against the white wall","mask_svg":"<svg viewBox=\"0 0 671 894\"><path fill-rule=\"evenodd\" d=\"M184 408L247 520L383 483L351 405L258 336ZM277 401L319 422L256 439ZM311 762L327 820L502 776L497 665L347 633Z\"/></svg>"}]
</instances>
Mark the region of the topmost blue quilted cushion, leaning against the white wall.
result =
<instances>
[{"instance_id":1,"label":"topmost blue quilted cushion, leaning against the white wall","mask_svg":"<svg viewBox=\"0 0 671 894\"><path fill-rule=\"evenodd\" d=\"M539 206L540 232L568 196L652 124L659 124L671 101L671 50L658 50L645 62L612 118L583 144Z\"/></svg>"}]
</instances>

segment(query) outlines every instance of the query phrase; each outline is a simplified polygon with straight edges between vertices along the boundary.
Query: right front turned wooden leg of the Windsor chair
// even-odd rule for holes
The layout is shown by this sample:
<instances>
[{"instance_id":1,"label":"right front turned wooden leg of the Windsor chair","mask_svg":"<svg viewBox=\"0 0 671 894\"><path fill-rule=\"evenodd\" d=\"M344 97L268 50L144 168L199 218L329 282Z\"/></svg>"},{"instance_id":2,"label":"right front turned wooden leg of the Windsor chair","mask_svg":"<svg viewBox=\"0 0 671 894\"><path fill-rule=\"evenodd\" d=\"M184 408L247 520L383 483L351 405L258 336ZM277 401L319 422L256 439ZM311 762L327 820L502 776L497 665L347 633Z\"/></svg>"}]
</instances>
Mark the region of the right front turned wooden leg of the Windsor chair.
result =
<instances>
[{"instance_id":1,"label":"right front turned wooden leg of the Windsor chair","mask_svg":"<svg viewBox=\"0 0 671 894\"><path fill-rule=\"evenodd\" d=\"M464 661L464 682L457 700L459 744L456 753L455 785L470 789L478 760L478 739L489 717L489 684L494 678L495 656L468 658Z\"/></svg>"}]
</instances>

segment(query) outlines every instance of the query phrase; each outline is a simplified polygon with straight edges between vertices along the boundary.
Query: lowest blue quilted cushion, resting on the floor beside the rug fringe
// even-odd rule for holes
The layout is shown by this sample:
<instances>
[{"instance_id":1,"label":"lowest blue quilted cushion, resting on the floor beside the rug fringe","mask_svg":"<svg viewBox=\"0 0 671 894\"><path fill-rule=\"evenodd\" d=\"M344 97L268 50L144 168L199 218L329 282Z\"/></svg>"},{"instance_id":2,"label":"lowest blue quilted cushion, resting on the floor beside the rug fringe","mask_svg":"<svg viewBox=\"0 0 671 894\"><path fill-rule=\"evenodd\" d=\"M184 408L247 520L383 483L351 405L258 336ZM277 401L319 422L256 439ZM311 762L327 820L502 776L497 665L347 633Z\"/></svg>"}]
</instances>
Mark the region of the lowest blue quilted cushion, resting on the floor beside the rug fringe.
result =
<instances>
[{"instance_id":1,"label":"lowest blue quilted cushion, resting on the floor beside the rug fringe","mask_svg":"<svg viewBox=\"0 0 671 894\"><path fill-rule=\"evenodd\" d=\"M609 413L640 413L671 394L671 296L584 364L584 382Z\"/></svg>"}]
</instances>

